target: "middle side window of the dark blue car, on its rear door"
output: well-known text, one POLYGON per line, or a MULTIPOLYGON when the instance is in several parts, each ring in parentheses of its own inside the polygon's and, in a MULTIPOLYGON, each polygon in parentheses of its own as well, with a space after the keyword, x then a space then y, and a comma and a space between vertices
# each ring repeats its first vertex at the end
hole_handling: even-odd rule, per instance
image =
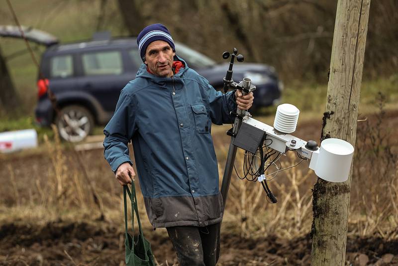
POLYGON ((120 75, 123 72, 119 51, 86 53, 82 61, 85 75, 120 75))

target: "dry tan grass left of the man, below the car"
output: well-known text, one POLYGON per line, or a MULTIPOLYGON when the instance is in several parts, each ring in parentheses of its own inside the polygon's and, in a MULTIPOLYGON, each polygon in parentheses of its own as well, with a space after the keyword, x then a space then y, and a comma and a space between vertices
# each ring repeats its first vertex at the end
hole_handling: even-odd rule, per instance
MULTIPOLYGON (((53 131, 54 139, 44 135, 45 150, 36 154, 50 162, 44 172, 16 178, 20 170, 7 163, 9 182, 3 184, 9 186, 12 203, 0 204, 0 222, 105 221, 124 228, 121 187, 104 178, 103 169, 90 168, 84 151, 62 145, 55 126, 53 131), (24 178, 30 179, 29 185, 24 178)), ((142 224, 151 227, 141 195, 138 200, 142 224)))

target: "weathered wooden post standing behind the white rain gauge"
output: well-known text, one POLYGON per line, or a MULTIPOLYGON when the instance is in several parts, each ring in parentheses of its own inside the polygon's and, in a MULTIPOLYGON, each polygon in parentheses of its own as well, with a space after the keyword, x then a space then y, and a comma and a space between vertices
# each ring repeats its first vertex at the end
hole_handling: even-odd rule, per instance
MULTIPOLYGON (((321 140, 355 146, 370 0, 338 0, 321 140)), ((351 174, 343 183, 318 178, 313 189, 312 266, 345 264, 351 174)))

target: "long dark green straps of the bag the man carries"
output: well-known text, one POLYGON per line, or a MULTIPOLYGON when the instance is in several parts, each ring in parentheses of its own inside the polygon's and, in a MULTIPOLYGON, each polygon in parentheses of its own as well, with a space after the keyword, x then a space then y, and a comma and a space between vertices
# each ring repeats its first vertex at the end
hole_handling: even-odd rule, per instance
MULTIPOLYGON (((128 185, 124 185, 123 186, 124 224, 125 224, 125 228, 126 228, 126 238, 127 238, 127 234, 128 234, 127 233, 127 200, 126 200, 126 192, 127 192, 128 196, 130 198, 130 202, 131 202, 131 218, 132 218, 131 225, 132 225, 132 230, 133 230, 133 235, 132 235, 132 240, 133 240, 132 246, 133 247, 131 247, 131 251, 134 250, 134 212, 135 212, 135 215, 137 216, 138 228, 139 228, 140 235, 141 235, 141 244, 143 245, 143 247, 146 250, 147 247, 146 247, 145 241, 144 241, 144 232, 142 230, 141 220, 140 220, 140 216, 138 214, 137 195, 136 195, 136 192, 135 192, 135 183, 134 183, 134 180, 131 180, 131 181, 132 181, 131 182, 131 191, 132 191, 132 193, 130 192, 130 189, 128 188, 128 185)), ((146 253, 145 253, 145 259, 146 260, 149 259, 148 255, 146 253)))

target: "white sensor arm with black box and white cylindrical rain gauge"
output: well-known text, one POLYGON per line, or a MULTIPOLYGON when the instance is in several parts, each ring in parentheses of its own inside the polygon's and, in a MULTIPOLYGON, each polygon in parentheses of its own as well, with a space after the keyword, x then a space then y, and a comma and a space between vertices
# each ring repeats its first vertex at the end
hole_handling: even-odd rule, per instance
POLYGON ((305 141, 291 134, 281 133, 249 116, 244 117, 233 145, 255 153, 263 141, 268 148, 281 153, 297 151, 299 157, 310 160, 308 167, 326 181, 344 182, 348 178, 354 147, 345 140, 327 138, 318 147, 313 140, 305 141))

